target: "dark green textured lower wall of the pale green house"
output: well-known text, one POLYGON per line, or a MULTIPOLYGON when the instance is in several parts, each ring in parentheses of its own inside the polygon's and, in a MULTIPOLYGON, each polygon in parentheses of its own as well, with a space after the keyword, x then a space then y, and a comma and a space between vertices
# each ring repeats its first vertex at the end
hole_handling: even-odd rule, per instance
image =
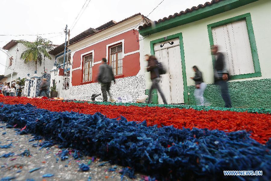
MULTIPOLYGON (((196 105, 194 97, 195 86, 188 86, 188 102, 196 105)), ((271 108, 271 79, 260 79, 251 81, 229 82, 229 93, 232 106, 236 108, 271 108)), ((220 87, 214 84, 207 84, 204 97, 212 103, 212 106, 223 107, 225 105, 220 87)))

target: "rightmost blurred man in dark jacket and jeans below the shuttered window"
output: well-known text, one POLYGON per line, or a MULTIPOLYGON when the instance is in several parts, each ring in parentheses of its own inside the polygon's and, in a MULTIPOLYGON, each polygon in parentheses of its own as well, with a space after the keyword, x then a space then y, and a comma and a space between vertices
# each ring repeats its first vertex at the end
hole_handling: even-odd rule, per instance
POLYGON ((232 101, 229 96, 229 88, 228 88, 228 79, 229 72, 227 70, 227 64, 224 59, 224 55, 221 52, 218 52, 217 45, 211 47, 211 53, 215 56, 214 63, 214 79, 215 84, 220 86, 221 96, 225 102, 225 107, 232 107, 232 101))

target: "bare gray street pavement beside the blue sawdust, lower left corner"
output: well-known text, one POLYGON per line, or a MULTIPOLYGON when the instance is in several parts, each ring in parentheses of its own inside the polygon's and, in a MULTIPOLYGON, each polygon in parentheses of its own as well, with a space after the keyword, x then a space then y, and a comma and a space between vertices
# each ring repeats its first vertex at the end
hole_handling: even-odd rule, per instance
MULTIPOLYGON (((0 148, 0 157, 3 154, 13 152, 10 157, 0 158, 0 180, 4 177, 15 177, 13 180, 34 179, 35 181, 51 181, 51 180, 121 180, 119 173, 123 167, 111 165, 107 162, 100 162, 96 159, 91 162, 89 171, 83 172, 79 170, 79 164, 89 164, 89 157, 81 157, 80 160, 75 160, 72 155, 68 159, 61 161, 60 153, 62 149, 58 145, 50 148, 33 147, 35 143, 41 143, 44 140, 29 142, 29 139, 34 138, 32 135, 19 135, 14 129, 5 128, 5 123, 0 122, 0 145, 8 145, 12 143, 11 148, 0 148), (2 127, 2 128, 1 128, 2 127), (25 150, 30 151, 30 156, 17 156, 25 150), (59 159, 57 161, 57 158, 59 159), (104 163, 103 166, 99 166, 104 163), (39 170, 29 172, 32 169, 39 170), (116 171, 108 171, 110 168, 116 168, 116 171), (49 178, 43 178, 44 174, 54 174, 49 178), (91 178, 91 179, 90 179, 91 178)), ((144 178, 140 174, 136 174, 136 179, 129 179, 124 176, 123 180, 142 180, 144 178)), ((33 181, 33 180, 29 180, 33 181)))

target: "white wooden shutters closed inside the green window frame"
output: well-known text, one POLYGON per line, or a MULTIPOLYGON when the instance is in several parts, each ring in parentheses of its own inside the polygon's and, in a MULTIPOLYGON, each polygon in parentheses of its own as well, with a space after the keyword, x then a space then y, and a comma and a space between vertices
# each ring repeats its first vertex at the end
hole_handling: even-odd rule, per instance
POLYGON ((212 28, 213 43, 219 46, 230 75, 254 73, 254 64, 245 20, 212 28))

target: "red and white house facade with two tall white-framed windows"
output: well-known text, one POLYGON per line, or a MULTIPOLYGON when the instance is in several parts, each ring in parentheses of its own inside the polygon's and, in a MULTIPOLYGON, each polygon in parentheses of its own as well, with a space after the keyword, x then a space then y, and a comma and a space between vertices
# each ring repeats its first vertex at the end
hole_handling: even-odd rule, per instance
POLYGON ((129 94, 135 100, 145 94, 145 62, 139 53, 141 37, 136 28, 147 21, 141 14, 135 14, 68 47, 71 50, 70 99, 90 100, 92 94, 101 93, 97 76, 102 58, 113 68, 117 82, 111 87, 114 97, 129 94))

